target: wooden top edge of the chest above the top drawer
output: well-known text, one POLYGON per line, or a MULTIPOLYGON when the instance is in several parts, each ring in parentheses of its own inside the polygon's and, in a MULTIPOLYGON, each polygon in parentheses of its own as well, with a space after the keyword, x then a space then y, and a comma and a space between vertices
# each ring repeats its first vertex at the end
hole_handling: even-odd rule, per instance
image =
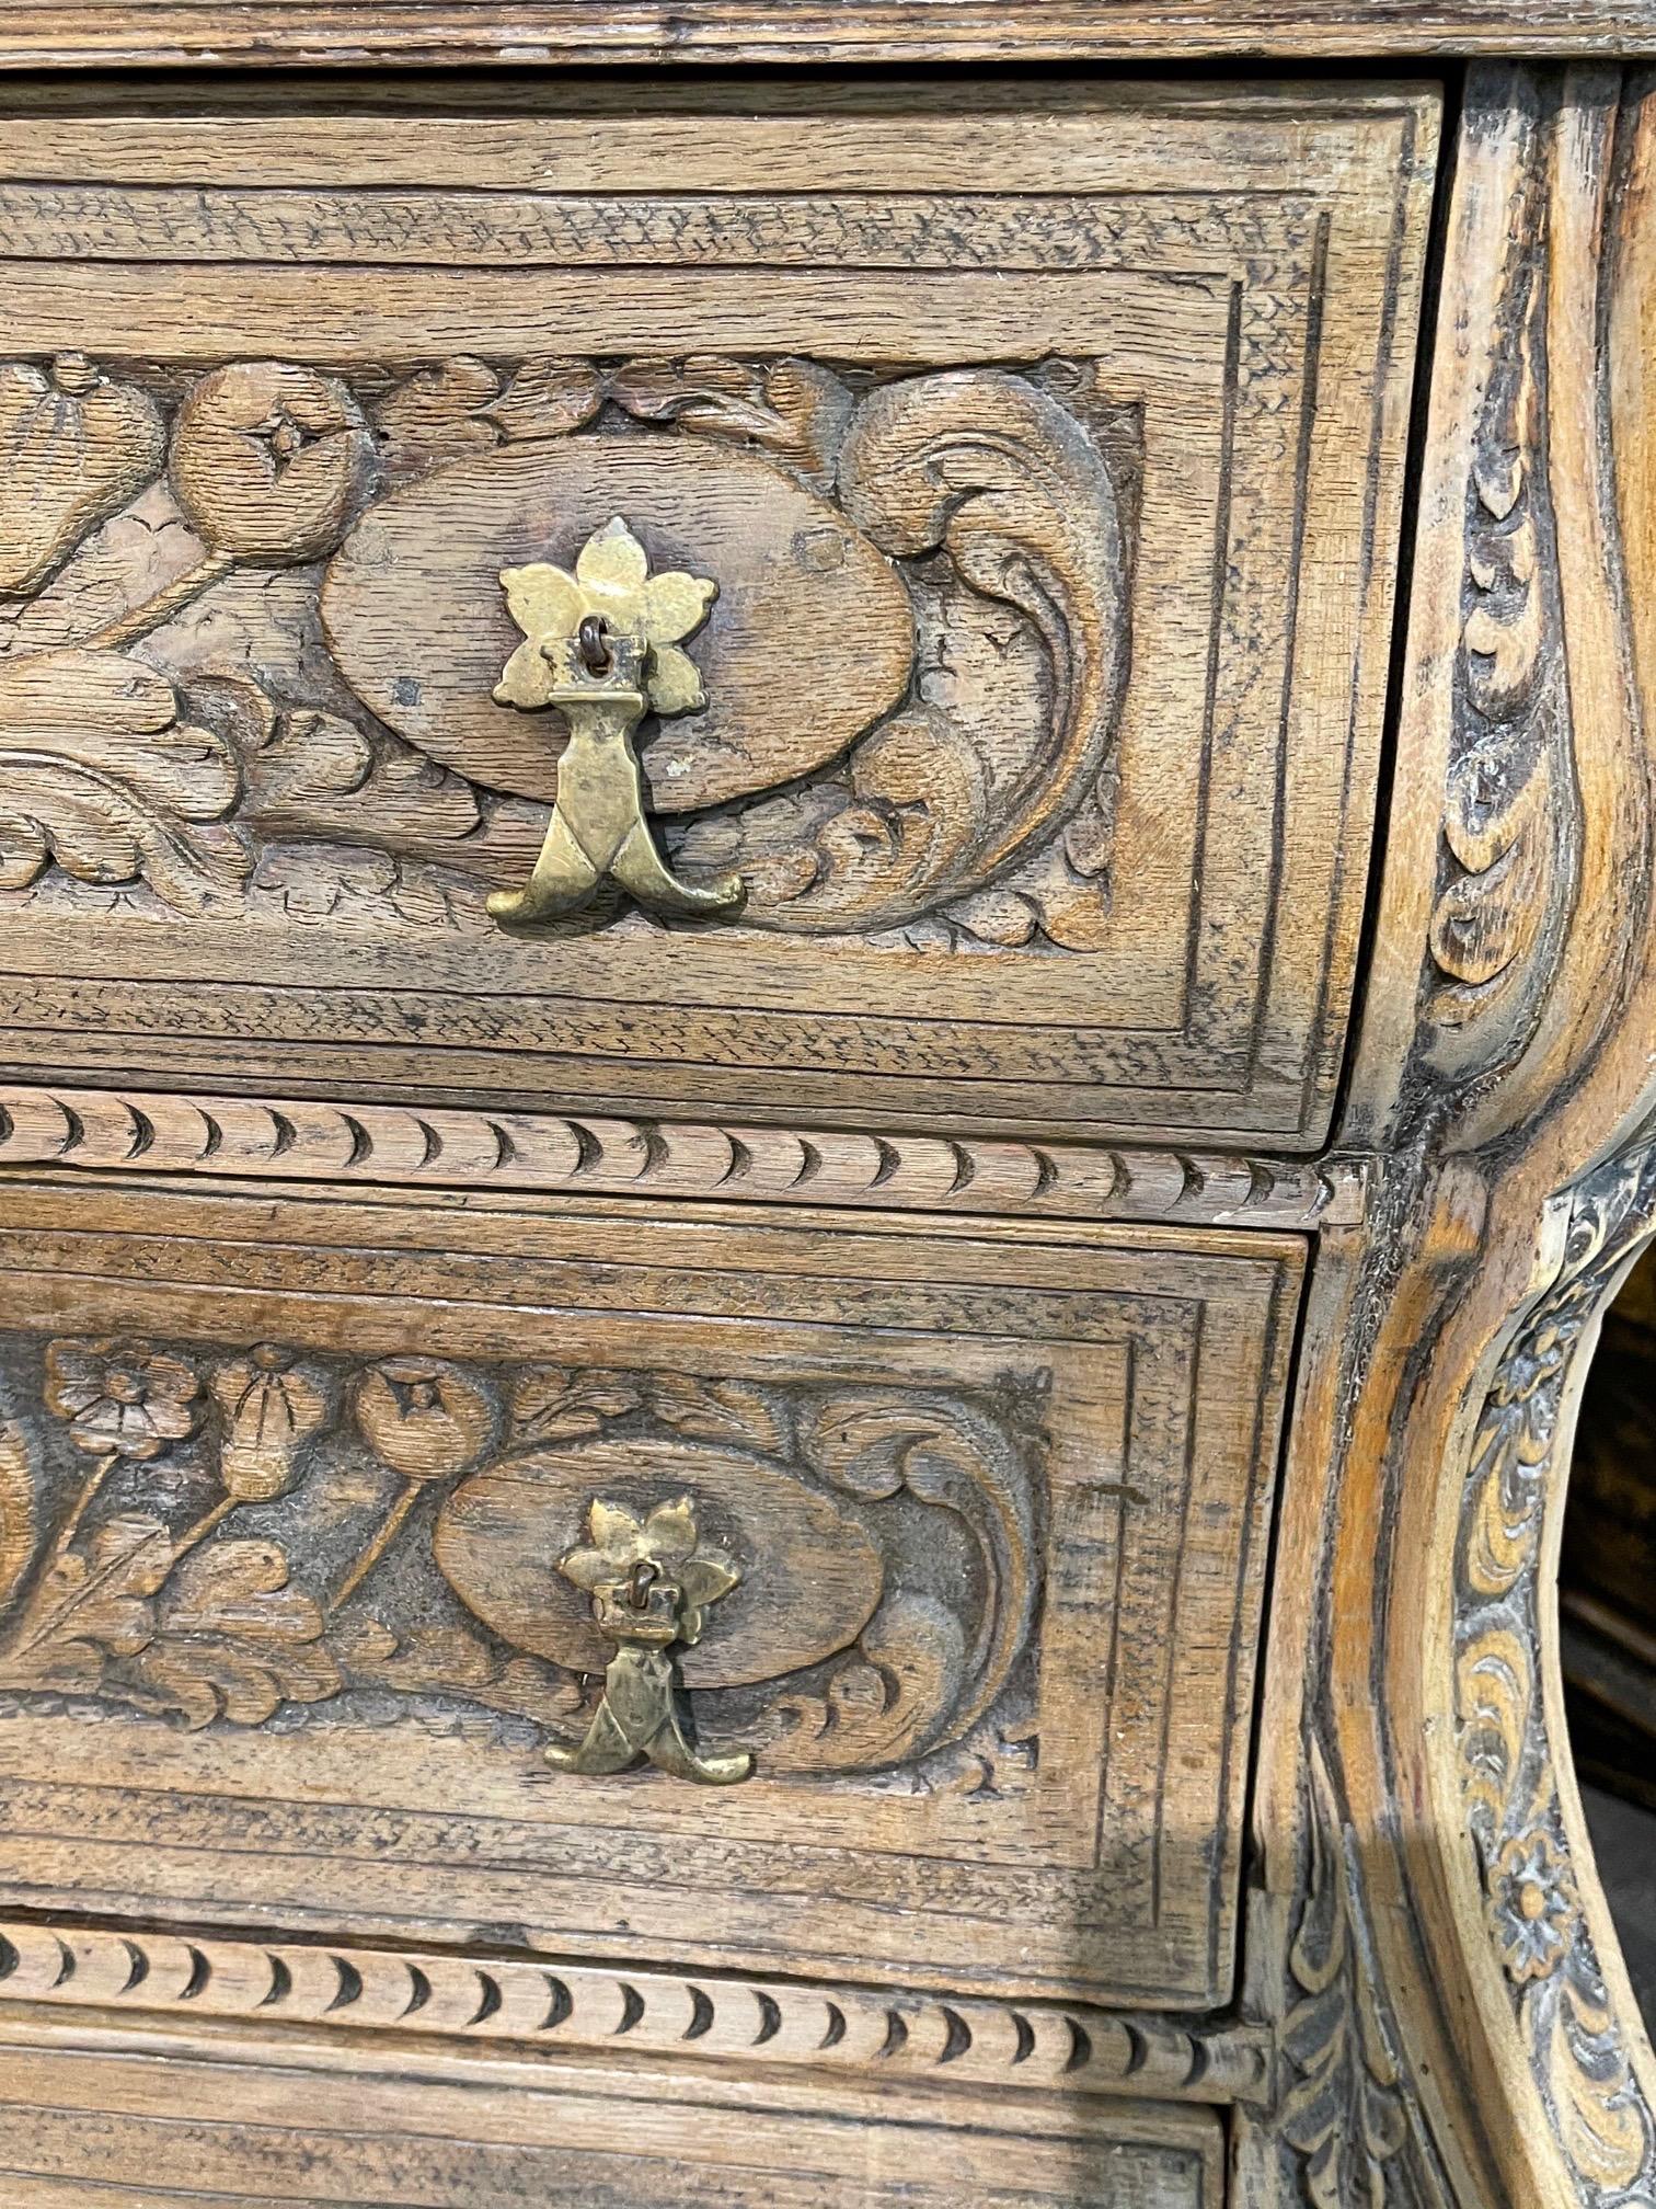
POLYGON ((0 60, 389 62, 1084 62, 1208 55, 1367 60, 1649 53, 1643 0, 13 0, 0 60))

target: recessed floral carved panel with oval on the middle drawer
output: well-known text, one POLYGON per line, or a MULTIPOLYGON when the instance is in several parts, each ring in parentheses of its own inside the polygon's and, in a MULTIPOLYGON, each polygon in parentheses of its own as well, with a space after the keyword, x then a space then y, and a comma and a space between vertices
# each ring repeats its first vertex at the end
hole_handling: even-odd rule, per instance
MULTIPOLYGON (((38 1352, 40 1356, 40 1352, 38 1352)), ((941 1394, 285 1345, 53 1341, 0 1423, 0 1692, 188 1727, 364 1694, 578 1741, 612 1648, 592 1504, 689 1511, 735 1575, 682 1650, 764 1776, 1027 1769, 1036 1381, 941 1394)), ((510 1730, 508 1730, 510 1732, 510 1730)))

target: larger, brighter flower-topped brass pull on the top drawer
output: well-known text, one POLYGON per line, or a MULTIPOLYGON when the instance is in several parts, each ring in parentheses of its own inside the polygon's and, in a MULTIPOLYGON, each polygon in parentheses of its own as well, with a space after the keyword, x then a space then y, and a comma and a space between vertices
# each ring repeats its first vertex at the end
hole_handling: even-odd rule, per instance
POLYGON ((696 663, 680 643, 718 596, 709 577, 649 572, 649 559, 616 515, 596 530, 574 574, 537 561, 501 570, 506 605, 523 643, 495 687, 499 705, 526 714, 559 707, 570 742, 541 857, 521 890, 495 890, 497 921, 554 921, 576 912, 605 877, 640 906, 687 919, 737 912, 740 875, 680 881, 645 822, 634 731, 645 714, 693 714, 707 705, 696 663))

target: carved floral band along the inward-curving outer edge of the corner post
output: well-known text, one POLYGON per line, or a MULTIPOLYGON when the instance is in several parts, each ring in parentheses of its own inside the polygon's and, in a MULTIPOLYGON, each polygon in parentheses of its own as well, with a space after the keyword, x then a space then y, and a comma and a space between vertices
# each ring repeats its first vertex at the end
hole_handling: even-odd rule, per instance
POLYGON ((1557 1277, 1499 1356, 1471 1451, 1455 1568, 1457 1763, 1486 1931, 1581 2198, 1656 2198, 1656 2118, 1632 2072, 1570 1869, 1543 1694, 1543 1549, 1596 1321, 1656 1233, 1656 1149, 1568 1199, 1557 1277))

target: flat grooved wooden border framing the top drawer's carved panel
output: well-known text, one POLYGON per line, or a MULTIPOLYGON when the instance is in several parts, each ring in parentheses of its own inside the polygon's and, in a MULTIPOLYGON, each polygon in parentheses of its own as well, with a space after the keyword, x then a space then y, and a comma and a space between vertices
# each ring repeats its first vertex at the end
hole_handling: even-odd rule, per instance
MULTIPOLYGON (((638 961, 625 943, 594 941, 590 970, 583 961, 574 981, 521 945, 492 945, 495 987, 479 1005, 464 941, 422 950, 413 965, 413 945, 402 945, 402 963, 373 981, 338 954, 331 937, 307 945, 283 921, 265 941, 267 956, 250 939, 252 965, 223 968, 223 937, 208 941, 185 928, 177 941, 152 943, 144 912, 119 910, 99 919, 97 939, 77 937, 77 976, 68 976, 66 937, 53 950, 51 915, 42 910, 40 932, 11 932, 15 985, 0 992, 18 1058, 46 1074, 75 1067, 91 1080, 119 1080, 141 1065, 161 1085, 205 1085, 225 1078, 210 1069, 234 1047, 238 1078, 278 1085, 296 1080, 296 1060, 305 1074, 338 1069, 351 1080, 344 1056, 360 1067, 371 1054, 375 1085, 413 1098, 437 1093, 431 1082, 442 1074, 450 1093, 477 1087, 523 1104, 541 1096, 594 1098, 627 1113, 671 1098, 667 1109, 764 1120, 868 1109, 852 1096, 857 1089, 879 1116, 943 1113, 978 1131, 1029 1124, 1033 1113, 1038 1124, 1062 1120, 1075 1135, 1108 1138, 1155 1109, 1179 1131, 1223 1129, 1252 1144, 1270 1142, 1274 1129, 1287 1144, 1314 1144, 1327 1122, 1356 959, 1378 740, 1378 714, 1367 709, 1378 694, 1365 676, 1389 625, 1387 548, 1406 400, 1398 362, 1413 329, 1435 104, 1429 91, 1402 86, 1365 86, 1349 102, 1305 86, 1104 88, 1091 93, 1091 104, 1078 97, 1082 88, 1058 93, 1053 130, 1029 141, 1044 148, 1040 159, 1025 157, 991 201, 980 199, 976 175, 963 197, 960 148, 976 137, 963 130, 956 99, 932 113, 923 95, 907 95, 923 106, 914 121, 923 141, 912 159, 941 148, 945 159, 927 161, 927 177, 936 170, 947 186, 914 194, 912 159, 894 159, 877 108, 863 115, 854 95, 819 95, 828 175, 813 175, 808 190, 784 190, 777 177, 762 203, 742 188, 764 172, 777 130, 804 128, 813 113, 797 104, 788 113, 782 99, 768 135, 749 141, 766 117, 751 119, 751 128, 722 117, 729 91, 720 88, 711 93, 715 113, 696 117, 700 150, 689 172, 665 168, 660 148, 651 152, 636 133, 620 141, 631 186, 620 194, 607 179, 585 192, 519 190, 526 161, 534 175, 548 155, 556 155, 563 183, 587 177, 570 146, 592 137, 583 102, 603 99, 592 93, 574 104, 561 93, 545 110, 523 104, 521 113, 497 113, 479 95, 484 141, 506 133, 510 159, 497 148, 475 179, 464 161, 477 155, 455 137, 464 119, 420 108, 431 88, 406 115, 397 110, 411 95, 395 95, 386 113, 402 121, 391 133, 402 152, 395 175, 369 199, 349 183, 349 150, 378 113, 373 102, 362 108, 362 91, 351 113, 307 113, 302 188, 280 194, 250 192, 247 183, 289 175, 291 152, 280 148, 296 110, 272 110, 256 95, 219 113, 210 95, 192 93, 185 115, 157 113, 152 93, 126 91, 102 113, 95 99, 53 99, 40 88, 18 95, 15 108, 7 102, 7 161, 18 175, 0 192, 0 243, 15 294, 11 342, 24 351, 93 345, 102 329, 157 362, 197 353, 210 360, 241 347, 280 353, 302 329, 314 367, 347 369, 362 351, 360 316, 371 294, 375 347, 386 360, 404 351, 424 360, 433 327, 450 314, 464 316, 466 342, 479 356, 503 358, 521 351, 519 340, 539 342, 567 292, 583 345, 625 353, 634 342, 634 307, 625 305, 634 278, 594 294, 585 272, 596 254, 629 272, 654 269, 651 298, 660 285, 689 285, 684 298, 702 300, 715 281, 720 298, 726 289, 733 300, 753 292, 755 305, 737 316, 753 345, 766 353, 802 345, 813 358, 819 345, 835 358, 843 345, 848 358, 874 347, 879 358, 905 360, 910 340, 899 345, 894 314, 912 331, 914 367, 936 356, 936 364, 956 369, 978 351, 1007 358, 1007 347, 1027 336, 1016 300, 1040 294, 1051 342, 1095 340, 1104 353, 1115 347, 1122 398, 1137 404, 1139 387, 1155 384, 1153 360, 1133 338, 1133 316, 1113 336, 1119 318, 1106 303, 1142 261, 1181 281, 1199 276, 1212 307, 1203 342, 1214 376, 1212 389, 1203 380, 1199 406, 1179 384, 1177 409, 1183 420, 1190 400, 1192 420, 1199 415, 1212 440, 1214 543, 1236 548, 1236 559, 1214 554, 1212 577, 1201 554, 1201 574, 1214 581, 1208 696, 1183 731, 1192 758, 1177 775, 1177 846, 1168 820, 1148 833, 1137 808, 1124 806, 1117 822, 1122 837, 1137 822, 1130 848, 1119 850, 1124 868, 1148 850, 1155 877, 1183 886, 1172 899, 1179 926, 1172 910, 1161 926, 1159 903, 1137 912, 1124 901, 1108 945, 1100 945, 1104 963, 1078 1001, 1071 992, 1080 976, 1058 990, 1053 976, 1031 974, 1020 959, 1016 970, 1031 985, 1013 992, 989 1023, 994 1034, 985 1034, 985 1014, 958 976, 934 1010, 921 1012, 888 1001, 888 983, 870 1003, 848 1003, 843 981, 830 987, 830 976, 806 965, 799 974, 810 976, 810 990, 797 987, 799 974, 788 968, 786 987, 777 979, 782 998, 749 1034, 746 1021, 729 1032, 726 976, 698 963, 707 959, 698 945, 673 950, 684 970, 682 996, 669 992, 662 1003, 649 990, 640 996, 638 961), (1108 128, 1082 157, 1071 146, 1073 126, 1093 113, 1108 128), (1208 117, 1248 130, 1245 159, 1228 152, 1203 166, 1208 117), (1133 168, 1137 146, 1168 130, 1190 148, 1190 166, 1183 152, 1164 155, 1157 175, 1142 179, 1133 168), (1133 135, 1130 148, 1124 133, 1133 135), (1338 159, 1329 146, 1342 148, 1338 159), (307 163, 316 161, 311 175, 307 163), (146 177, 137 197, 121 181, 132 172, 146 177), (179 190, 166 188, 172 172, 179 190), (843 181, 848 175, 854 186, 843 181), (464 197, 453 190, 461 177, 464 197), (473 208, 473 186, 490 186, 481 192, 490 210, 473 208), (408 267, 411 252, 424 265, 408 267), (172 269, 159 320, 157 254, 172 269), (762 287, 731 289, 735 272, 757 276, 755 254, 777 254, 786 267, 762 287), (230 287, 227 316, 225 261, 243 272, 230 287), (367 265, 378 274, 364 294, 367 265), (952 303, 943 353, 936 303, 927 305, 925 285, 914 289, 921 269, 952 303), (1228 327, 1230 340, 1221 342, 1228 327), (1329 373, 1347 351, 1367 362, 1349 389, 1329 373), (1362 486, 1334 466, 1347 440, 1369 457, 1362 486), (1316 579, 1318 541, 1329 530, 1345 541, 1347 528, 1354 596, 1347 603, 1340 585, 1338 610, 1323 607, 1316 623, 1318 649, 1340 667, 1336 694, 1325 700, 1296 680, 1312 632, 1301 636, 1301 594, 1283 592, 1278 570, 1305 568, 1316 579), (1243 559, 1241 548, 1256 557, 1243 559), (1325 630, 1323 619, 1336 612, 1336 627, 1325 630), (1221 775, 1195 769, 1195 755, 1201 749, 1223 760, 1243 727, 1250 747, 1259 744, 1261 771, 1225 791, 1221 775), (1307 808, 1327 835, 1285 831, 1307 808), (1259 884, 1263 921, 1252 919, 1259 884), (1296 926, 1278 926, 1281 915, 1298 915, 1296 926), (1155 987, 1144 985, 1139 1003, 1142 970, 1153 970, 1155 987), (320 1034, 316 987, 329 990, 320 1034), (66 1036, 75 1038, 73 1056, 66 1036), (687 1049, 687 1040, 698 1047, 687 1049), (737 1076, 740 1091, 731 1087, 737 1076)), ((1018 130, 1029 137, 1033 113, 1025 117, 1018 97, 996 88, 972 97, 987 102, 980 124, 996 144, 1018 130)), ((1022 106, 1031 106, 1027 95, 1022 106)), ((643 121, 656 126, 662 117, 671 124, 671 99, 643 121)), ((631 124, 614 117, 609 128, 627 133, 631 124)), ((669 139, 678 146, 671 130, 669 139)), ((740 342, 749 347, 749 338, 740 342)), ((1177 504, 1170 490, 1168 499, 1177 504)), ((1161 515, 1164 528, 1168 521, 1161 515)), ((1197 537, 1206 537, 1206 521, 1197 537)), ((161 601, 166 592, 150 603, 161 601)), ((1150 594, 1139 619, 1153 603, 1150 594)), ((1312 594, 1307 616, 1320 605, 1312 594)), ((29 647, 24 656, 40 654, 29 647)), ((1128 698, 1128 786, 1137 780, 1133 762, 1166 742, 1128 698)), ((764 959, 773 952, 766 945, 764 959)))

